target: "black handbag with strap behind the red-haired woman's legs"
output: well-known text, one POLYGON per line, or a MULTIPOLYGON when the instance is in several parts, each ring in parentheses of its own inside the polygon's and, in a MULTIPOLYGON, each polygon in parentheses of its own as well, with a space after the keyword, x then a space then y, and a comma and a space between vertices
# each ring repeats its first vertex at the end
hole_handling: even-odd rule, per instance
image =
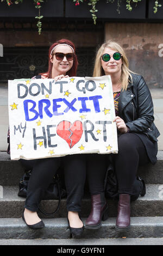
MULTIPOLYGON (((17 193, 17 195, 19 197, 27 197, 27 188, 28 188, 28 182, 30 179, 30 175, 32 174, 32 171, 29 170, 28 172, 25 172, 20 180, 19 183, 19 191, 17 193)), ((47 188, 46 191, 44 191, 44 193, 42 194, 42 200, 57 200, 58 199, 58 206, 57 209, 52 212, 52 213, 47 213, 43 210, 41 210, 39 208, 39 211, 42 212, 42 214, 45 215, 53 215, 55 214, 60 207, 60 202, 61 202, 61 198, 66 197, 66 191, 64 190, 64 188, 61 187, 61 181, 59 178, 59 175, 55 175, 52 179, 51 184, 49 185, 49 187, 47 188)))

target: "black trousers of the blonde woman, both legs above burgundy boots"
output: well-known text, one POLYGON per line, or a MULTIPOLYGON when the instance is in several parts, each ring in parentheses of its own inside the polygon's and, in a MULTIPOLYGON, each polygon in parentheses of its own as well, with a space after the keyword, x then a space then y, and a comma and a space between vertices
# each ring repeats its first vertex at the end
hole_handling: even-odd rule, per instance
MULTIPOLYGON (((108 161, 107 155, 89 157, 87 177, 91 194, 104 192, 104 179, 108 161)), ((118 137, 118 154, 111 154, 118 181, 119 193, 131 193, 137 168, 149 162, 146 148, 141 139, 133 133, 118 137)))

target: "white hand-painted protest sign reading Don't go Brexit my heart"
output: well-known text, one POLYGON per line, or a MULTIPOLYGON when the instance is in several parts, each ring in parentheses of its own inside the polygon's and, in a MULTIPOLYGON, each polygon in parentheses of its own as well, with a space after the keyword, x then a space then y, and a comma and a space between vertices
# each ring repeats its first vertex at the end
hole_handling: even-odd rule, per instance
POLYGON ((11 159, 117 153, 110 76, 9 80, 11 159))

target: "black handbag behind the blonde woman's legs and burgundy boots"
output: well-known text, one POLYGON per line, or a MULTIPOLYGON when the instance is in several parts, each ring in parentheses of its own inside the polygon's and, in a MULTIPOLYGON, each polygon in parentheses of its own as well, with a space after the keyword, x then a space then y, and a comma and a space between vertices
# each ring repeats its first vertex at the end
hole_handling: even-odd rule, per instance
MULTIPOLYGON (((130 194, 130 200, 135 201, 140 195, 146 194, 145 181, 139 176, 135 176, 133 190, 130 194)), ((118 182, 113 168, 108 168, 105 178, 105 197, 116 200, 119 198, 118 182)))

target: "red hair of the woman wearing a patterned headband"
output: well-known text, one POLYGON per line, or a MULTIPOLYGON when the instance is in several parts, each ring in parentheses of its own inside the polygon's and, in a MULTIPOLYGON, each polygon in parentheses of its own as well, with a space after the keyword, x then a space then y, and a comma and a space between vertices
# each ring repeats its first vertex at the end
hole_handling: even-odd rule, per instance
MULTIPOLYGON (((61 39, 57 42, 54 42, 53 45, 51 45, 51 47, 49 48, 49 53, 48 53, 48 71, 46 72, 46 77, 47 78, 52 78, 52 67, 53 67, 53 64, 50 60, 50 55, 51 55, 51 51, 53 49, 53 47, 55 47, 56 45, 59 45, 59 44, 67 44, 67 45, 70 45, 73 50, 74 50, 74 57, 73 57, 73 65, 72 65, 72 68, 70 70, 67 71, 66 75, 68 76, 76 76, 77 74, 77 68, 78 68, 78 59, 77 59, 77 56, 76 56, 76 48, 73 44, 73 42, 71 42, 70 40, 68 39, 61 39)), ((39 75, 43 75, 45 73, 41 73, 39 75)))

